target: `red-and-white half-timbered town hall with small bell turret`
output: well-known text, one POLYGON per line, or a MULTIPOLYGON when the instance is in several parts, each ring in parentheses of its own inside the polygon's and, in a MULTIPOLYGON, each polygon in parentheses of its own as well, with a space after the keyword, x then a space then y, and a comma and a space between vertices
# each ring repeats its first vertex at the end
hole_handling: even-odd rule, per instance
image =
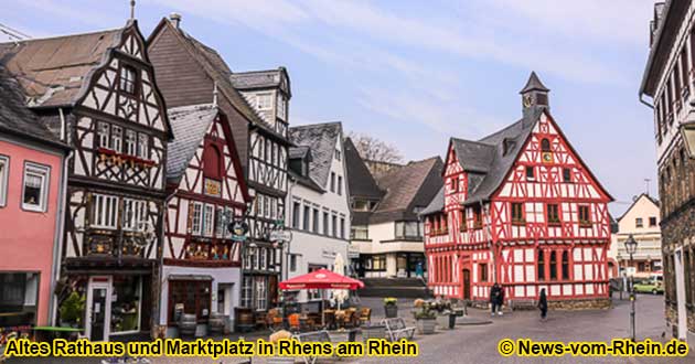
POLYGON ((421 212, 428 286, 485 303, 608 304, 608 203, 612 197, 549 114, 535 73, 521 92, 523 118, 479 141, 452 138, 445 186, 421 212))

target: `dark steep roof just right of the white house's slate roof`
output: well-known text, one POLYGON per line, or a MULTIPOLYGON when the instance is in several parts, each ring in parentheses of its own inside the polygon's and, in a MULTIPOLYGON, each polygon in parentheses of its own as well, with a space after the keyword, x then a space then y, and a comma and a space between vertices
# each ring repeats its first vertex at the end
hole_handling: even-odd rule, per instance
POLYGON ((345 138, 343 141, 345 150, 345 168, 348 170, 348 186, 351 197, 364 197, 378 200, 384 192, 378 188, 370 169, 364 164, 352 139, 345 138))

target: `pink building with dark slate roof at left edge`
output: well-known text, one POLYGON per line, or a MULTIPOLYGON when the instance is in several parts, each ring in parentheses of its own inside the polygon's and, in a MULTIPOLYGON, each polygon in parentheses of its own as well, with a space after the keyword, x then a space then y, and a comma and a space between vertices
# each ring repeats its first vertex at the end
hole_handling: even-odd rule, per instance
POLYGON ((68 150, 0 65, 0 332, 51 323, 68 150))

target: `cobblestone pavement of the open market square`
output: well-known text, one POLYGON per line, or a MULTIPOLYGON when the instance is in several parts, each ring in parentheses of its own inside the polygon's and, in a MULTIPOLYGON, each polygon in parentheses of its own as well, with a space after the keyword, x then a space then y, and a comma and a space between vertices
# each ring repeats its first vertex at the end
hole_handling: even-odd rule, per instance
MULTIPOLYGON (((363 306, 374 308, 373 321, 379 320, 384 310, 382 300, 365 298, 363 306)), ((414 324, 410 314, 411 303, 398 302, 399 315, 406 318, 408 324, 414 324)), ((553 357, 553 358, 520 358, 502 357, 498 353, 498 342, 502 339, 532 339, 534 341, 603 341, 613 338, 627 338, 629 328, 628 301, 614 301, 610 310, 594 311, 552 311, 548 320, 539 321, 536 311, 505 312, 503 317, 495 317, 492 323, 482 325, 457 325, 452 331, 437 331, 432 335, 416 335, 415 341, 420 349, 418 357, 360 357, 343 358, 341 361, 320 360, 319 363, 694 363, 695 353, 691 346, 691 354, 685 358, 638 358, 638 357, 553 357)), ((663 320, 664 303, 661 296, 639 296, 637 301, 637 333, 638 340, 650 338, 654 341, 667 341, 669 331, 663 320), (662 339, 662 333, 665 338, 662 339)), ((469 317, 490 320, 490 314, 483 310, 470 309, 469 317)), ((267 333, 247 334, 246 340, 257 338, 267 339, 267 333)), ((236 340, 236 336, 231 336, 236 340)), ((691 343, 692 344, 692 343, 691 343)), ((8 363, 66 363, 56 360, 11 360, 8 363)), ((71 361, 78 363, 98 363, 96 358, 79 358, 71 361)), ((223 357, 217 361, 191 357, 153 357, 152 363, 242 363, 243 358, 223 357)), ((254 358, 253 363, 265 363, 264 358, 254 358)), ((299 361, 298 361, 299 363, 299 361)))

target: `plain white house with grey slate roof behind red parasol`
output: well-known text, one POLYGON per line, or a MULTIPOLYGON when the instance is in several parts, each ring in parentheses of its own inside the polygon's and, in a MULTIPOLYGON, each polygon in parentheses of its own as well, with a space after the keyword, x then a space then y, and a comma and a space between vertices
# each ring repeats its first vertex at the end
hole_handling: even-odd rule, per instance
MULTIPOLYGON (((332 270, 335 259, 348 274, 350 204, 348 171, 340 122, 290 128, 296 147, 289 150, 290 189, 287 197, 288 225, 292 240, 285 263, 284 279, 322 268, 332 270)), ((297 301, 320 300, 320 291, 297 291, 297 301)))

